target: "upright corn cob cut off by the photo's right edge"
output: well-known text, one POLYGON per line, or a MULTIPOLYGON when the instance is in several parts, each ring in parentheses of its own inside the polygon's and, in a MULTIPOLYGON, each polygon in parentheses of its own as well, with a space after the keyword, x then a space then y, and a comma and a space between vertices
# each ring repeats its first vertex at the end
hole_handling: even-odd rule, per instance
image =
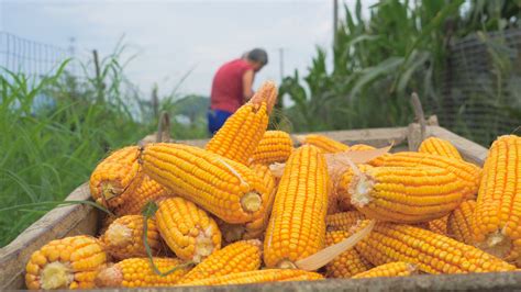
POLYGON ((501 136, 489 149, 476 209, 475 243, 521 266, 521 137, 501 136))

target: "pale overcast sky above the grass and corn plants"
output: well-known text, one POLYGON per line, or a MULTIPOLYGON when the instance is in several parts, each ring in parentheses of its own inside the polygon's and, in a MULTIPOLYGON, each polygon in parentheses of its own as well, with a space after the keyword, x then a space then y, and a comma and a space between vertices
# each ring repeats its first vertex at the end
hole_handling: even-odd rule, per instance
POLYGON ((154 82, 169 92, 192 69, 180 92, 208 96, 218 67, 256 46, 269 54, 256 86, 280 79, 280 47, 285 72, 304 72, 315 46, 332 42, 332 0, 0 0, 0 31, 65 48, 75 37, 84 58, 93 48, 101 56, 112 52, 124 35, 129 55, 138 54, 126 74, 143 92, 154 82))

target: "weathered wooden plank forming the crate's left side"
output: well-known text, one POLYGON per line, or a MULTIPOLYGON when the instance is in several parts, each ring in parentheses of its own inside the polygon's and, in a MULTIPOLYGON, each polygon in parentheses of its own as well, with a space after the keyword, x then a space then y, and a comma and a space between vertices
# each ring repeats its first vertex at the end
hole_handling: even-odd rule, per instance
MULTIPOLYGON (((90 200, 88 183, 78 187, 65 200, 90 200)), ((33 251, 53 239, 78 234, 93 235, 97 225, 98 212, 91 205, 53 209, 0 249, 0 287, 2 290, 25 287, 23 272, 33 251)))

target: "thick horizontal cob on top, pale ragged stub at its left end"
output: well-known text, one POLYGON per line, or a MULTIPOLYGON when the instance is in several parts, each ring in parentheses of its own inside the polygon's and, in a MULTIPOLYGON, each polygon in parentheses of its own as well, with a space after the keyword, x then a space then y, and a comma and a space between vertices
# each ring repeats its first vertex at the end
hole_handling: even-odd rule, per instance
POLYGON ((356 175, 351 203, 369 218, 420 223, 443 217, 462 202, 464 184, 435 167, 376 167, 356 175))

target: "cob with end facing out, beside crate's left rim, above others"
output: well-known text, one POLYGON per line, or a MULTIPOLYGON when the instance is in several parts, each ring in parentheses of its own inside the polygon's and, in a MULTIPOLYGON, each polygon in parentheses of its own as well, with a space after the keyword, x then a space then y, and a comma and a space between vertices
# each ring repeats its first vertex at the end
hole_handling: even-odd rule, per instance
POLYGON ((137 146, 125 147, 112 153, 96 167, 89 183, 96 202, 112 209, 131 195, 140 180, 138 156, 137 146))

